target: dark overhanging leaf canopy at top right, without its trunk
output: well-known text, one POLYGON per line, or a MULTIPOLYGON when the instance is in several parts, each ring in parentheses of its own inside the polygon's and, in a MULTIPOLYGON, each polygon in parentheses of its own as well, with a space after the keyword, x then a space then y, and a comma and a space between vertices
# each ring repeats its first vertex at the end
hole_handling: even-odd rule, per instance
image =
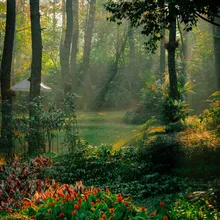
POLYGON ((141 26, 142 34, 149 37, 147 49, 155 50, 156 42, 163 36, 161 30, 168 28, 173 17, 177 17, 185 24, 185 30, 190 31, 202 18, 214 25, 218 16, 220 2, 207 0, 110 0, 105 4, 111 13, 110 21, 130 20, 132 26, 141 26))

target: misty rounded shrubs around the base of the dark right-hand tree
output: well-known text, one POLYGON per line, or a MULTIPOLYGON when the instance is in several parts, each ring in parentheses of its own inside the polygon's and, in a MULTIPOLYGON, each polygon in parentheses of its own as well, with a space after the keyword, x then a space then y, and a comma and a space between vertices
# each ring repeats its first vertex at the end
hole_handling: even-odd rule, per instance
POLYGON ((185 120, 192 112, 185 101, 186 93, 192 92, 193 86, 187 82, 183 86, 178 84, 180 100, 173 100, 168 96, 168 87, 157 83, 147 83, 147 87, 141 91, 141 102, 124 116, 127 123, 141 124, 150 117, 156 116, 164 123, 185 120))

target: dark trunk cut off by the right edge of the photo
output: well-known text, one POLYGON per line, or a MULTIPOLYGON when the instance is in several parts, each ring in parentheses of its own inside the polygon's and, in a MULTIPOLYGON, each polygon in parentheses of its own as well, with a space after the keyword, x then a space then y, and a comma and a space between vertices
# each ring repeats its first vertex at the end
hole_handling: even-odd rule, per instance
MULTIPOLYGON (((220 24, 220 18, 216 17, 215 22, 220 24)), ((214 37, 216 87, 217 90, 220 90, 220 27, 213 26, 213 37, 214 37)))

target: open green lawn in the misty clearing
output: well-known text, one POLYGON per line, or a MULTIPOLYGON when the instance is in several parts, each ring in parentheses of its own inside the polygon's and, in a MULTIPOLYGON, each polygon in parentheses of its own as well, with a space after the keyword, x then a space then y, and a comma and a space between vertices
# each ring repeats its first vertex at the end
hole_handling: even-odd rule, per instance
POLYGON ((127 125, 122 118, 125 112, 78 112, 79 135, 90 145, 115 145, 134 136, 138 125, 127 125))

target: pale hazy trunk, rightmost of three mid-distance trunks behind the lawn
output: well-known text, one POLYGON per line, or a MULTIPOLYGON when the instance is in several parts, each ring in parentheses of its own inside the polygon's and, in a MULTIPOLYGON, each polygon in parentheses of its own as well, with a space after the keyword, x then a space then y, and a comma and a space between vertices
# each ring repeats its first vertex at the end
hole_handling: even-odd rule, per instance
POLYGON ((95 22, 95 12, 96 12, 96 0, 91 0, 90 8, 89 8, 89 19, 85 31, 83 63, 82 63, 85 100, 86 100, 85 109, 89 109, 92 106, 93 95, 92 95, 92 87, 91 87, 91 79, 90 79, 91 76, 89 74, 89 65, 90 65, 90 53, 91 53, 91 44, 92 44, 92 32, 95 22))

